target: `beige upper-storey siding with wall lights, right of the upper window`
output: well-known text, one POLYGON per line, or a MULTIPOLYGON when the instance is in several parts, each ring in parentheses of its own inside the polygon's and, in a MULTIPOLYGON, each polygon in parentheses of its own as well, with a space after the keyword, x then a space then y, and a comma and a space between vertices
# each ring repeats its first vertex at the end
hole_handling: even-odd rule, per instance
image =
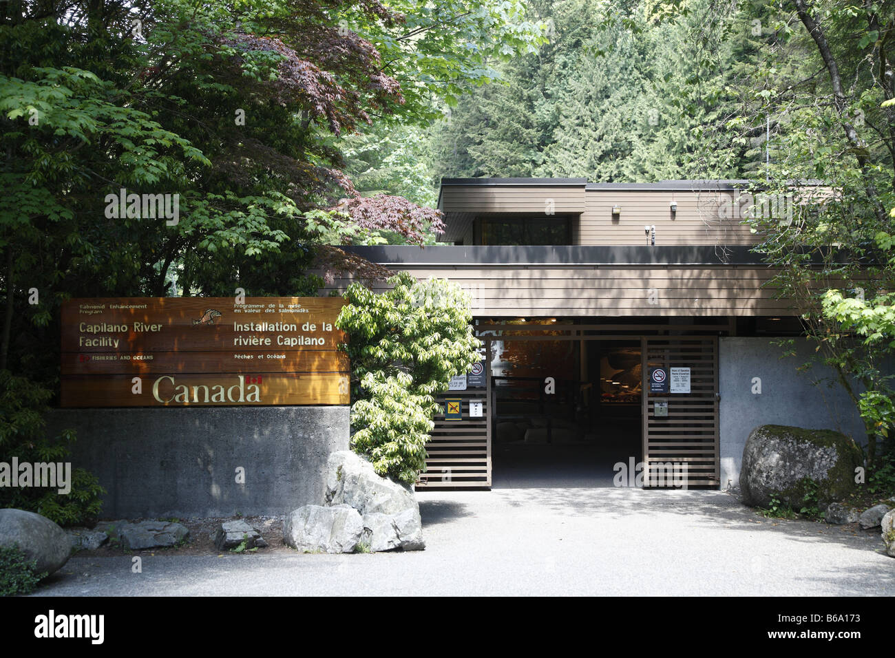
POLYGON ((647 225, 656 226, 656 245, 755 244, 748 226, 737 218, 721 217, 724 199, 731 201, 732 192, 589 190, 577 244, 649 244, 647 225), (678 203, 675 213, 671 201, 678 203), (616 204, 621 213, 613 217, 616 204))

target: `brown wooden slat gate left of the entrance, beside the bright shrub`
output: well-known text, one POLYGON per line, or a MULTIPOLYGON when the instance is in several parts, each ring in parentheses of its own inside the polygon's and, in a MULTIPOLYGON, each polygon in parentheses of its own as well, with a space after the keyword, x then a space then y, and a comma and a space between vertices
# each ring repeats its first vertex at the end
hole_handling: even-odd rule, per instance
MULTIPOLYGON (((490 377, 488 379, 490 380, 490 377)), ((426 472, 420 474, 416 488, 490 488, 491 408, 488 391, 485 389, 450 391, 437 399, 441 405, 441 413, 432 418, 435 429, 432 431, 430 442, 426 444, 429 453, 426 459, 426 472), (463 400, 463 420, 445 420, 444 404, 447 397, 463 400), (469 417, 470 400, 482 401, 481 418, 469 417)))

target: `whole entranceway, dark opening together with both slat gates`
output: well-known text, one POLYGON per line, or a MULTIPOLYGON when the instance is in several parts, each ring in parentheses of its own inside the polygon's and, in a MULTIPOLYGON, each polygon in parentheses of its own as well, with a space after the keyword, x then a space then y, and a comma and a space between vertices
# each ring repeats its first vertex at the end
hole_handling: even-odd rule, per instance
POLYGON ((729 325, 523 319, 476 330, 480 376, 437 398, 418 487, 719 485, 718 336, 729 325))

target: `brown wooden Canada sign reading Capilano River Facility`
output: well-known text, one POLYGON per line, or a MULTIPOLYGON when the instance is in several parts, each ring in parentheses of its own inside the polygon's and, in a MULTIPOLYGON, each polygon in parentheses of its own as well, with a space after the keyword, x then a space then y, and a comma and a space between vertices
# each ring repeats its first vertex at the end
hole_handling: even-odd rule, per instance
POLYGON ((62 406, 347 405, 338 297, 72 299, 62 406))

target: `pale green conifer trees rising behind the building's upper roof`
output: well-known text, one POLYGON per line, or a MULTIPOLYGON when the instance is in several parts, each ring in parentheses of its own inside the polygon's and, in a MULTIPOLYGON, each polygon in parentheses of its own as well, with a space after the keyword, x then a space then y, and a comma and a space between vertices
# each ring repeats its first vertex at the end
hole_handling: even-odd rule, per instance
POLYGON ((756 45, 741 36, 754 13, 719 19, 711 0, 533 7, 548 43, 499 64, 501 84, 436 125, 434 175, 738 178, 763 155, 730 124, 729 87, 753 76, 756 45))

